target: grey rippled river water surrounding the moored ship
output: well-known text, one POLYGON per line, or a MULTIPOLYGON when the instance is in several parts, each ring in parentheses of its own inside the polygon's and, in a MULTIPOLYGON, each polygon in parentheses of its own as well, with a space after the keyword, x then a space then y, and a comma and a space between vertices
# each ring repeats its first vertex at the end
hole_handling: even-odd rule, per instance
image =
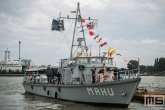
MULTIPOLYGON (((0 110, 151 110, 164 107, 145 107, 143 103, 131 102, 128 108, 107 107, 63 101, 27 94, 22 86, 23 77, 0 77, 0 110)), ((157 84, 165 87, 165 77, 145 76, 140 85, 157 84)))

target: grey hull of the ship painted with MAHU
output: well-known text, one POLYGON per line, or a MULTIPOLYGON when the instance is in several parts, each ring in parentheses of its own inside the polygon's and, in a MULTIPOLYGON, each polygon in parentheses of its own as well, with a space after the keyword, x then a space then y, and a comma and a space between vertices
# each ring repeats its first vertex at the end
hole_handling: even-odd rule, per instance
POLYGON ((44 85, 23 83, 26 92, 78 102, 128 105, 140 78, 84 85, 44 85))

